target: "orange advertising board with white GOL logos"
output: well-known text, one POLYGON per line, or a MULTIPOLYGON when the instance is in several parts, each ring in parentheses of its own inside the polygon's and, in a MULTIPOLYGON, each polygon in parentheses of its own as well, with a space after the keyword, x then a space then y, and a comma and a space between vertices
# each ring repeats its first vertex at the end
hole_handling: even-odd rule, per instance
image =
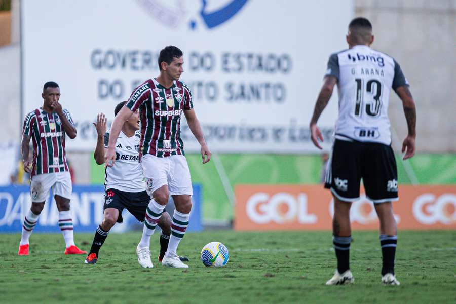
MULTIPOLYGON (((322 185, 238 185, 235 230, 330 230, 334 213, 322 185)), ((378 229, 371 201, 363 193, 353 203, 355 230, 378 229)), ((399 229, 456 229, 456 186, 399 186, 393 203, 399 229)))

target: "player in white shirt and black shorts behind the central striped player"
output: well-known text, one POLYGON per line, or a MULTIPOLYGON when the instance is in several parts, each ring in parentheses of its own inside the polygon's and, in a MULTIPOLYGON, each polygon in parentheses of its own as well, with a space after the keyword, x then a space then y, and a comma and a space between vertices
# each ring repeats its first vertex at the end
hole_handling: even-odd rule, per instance
MULTIPOLYGON (((126 101, 119 103, 114 109, 117 115, 126 101)), ((106 118, 100 113, 95 124, 97 129, 97 146, 94 158, 98 165, 104 163, 104 154, 109 141, 109 132, 106 132, 106 118)), ((98 226, 93 238, 89 255, 84 261, 86 264, 95 264, 98 260, 98 253, 107 238, 109 230, 116 222, 123 222, 122 211, 127 209, 137 220, 144 221, 147 205, 150 196, 145 190, 144 178, 141 164, 139 163, 139 111, 133 113, 125 122, 116 142, 116 166, 106 168, 105 172, 105 201, 104 218, 98 226)), ((160 255, 162 261, 168 248, 170 236, 171 218, 165 211, 160 218, 158 226, 162 229, 160 235, 160 255)), ((138 261, 144 268, 151 268, 149 248, 142 248, 137 252, 138 261)), ((181 260, 188 260, 186 257, 179 257, 181 260)))

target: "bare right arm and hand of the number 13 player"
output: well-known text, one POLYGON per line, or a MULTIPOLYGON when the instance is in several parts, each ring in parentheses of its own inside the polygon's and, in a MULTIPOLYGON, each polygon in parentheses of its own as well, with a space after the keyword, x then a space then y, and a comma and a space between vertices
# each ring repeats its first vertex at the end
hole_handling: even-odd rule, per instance
POLYGON ((405 152, 404 160, 412 158, 415 154, 416 137, 416 109, 415 102, 408 86, 401 86, 396 89, 396 94, 402 100, 405 119, 407 120, 408 134, 402 143, 402 153, 405 152))

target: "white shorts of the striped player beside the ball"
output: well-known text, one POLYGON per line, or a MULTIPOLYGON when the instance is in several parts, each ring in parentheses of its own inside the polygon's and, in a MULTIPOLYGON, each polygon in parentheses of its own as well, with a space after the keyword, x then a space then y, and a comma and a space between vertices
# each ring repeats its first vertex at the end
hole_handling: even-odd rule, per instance
POLYGON ((168 185, 170 195, 193 195, 190 170, 183 155, 156 157, 146 154, 141 158, 141 166, 149 195, 164 185, 168 185))

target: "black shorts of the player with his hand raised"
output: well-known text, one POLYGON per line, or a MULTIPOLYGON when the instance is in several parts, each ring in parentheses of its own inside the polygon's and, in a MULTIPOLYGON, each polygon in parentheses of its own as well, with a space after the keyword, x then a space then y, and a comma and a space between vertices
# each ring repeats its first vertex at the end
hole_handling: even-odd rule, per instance
POLYGON ((103 210, 114 208, 119 210, 117 222, 123 222, 122 211, 127 209, 137 220, 144 221, 145 210, 149 204, 150 197, 147 192, 126 192, 118 189, 106 189, 104 194, 103 210))

